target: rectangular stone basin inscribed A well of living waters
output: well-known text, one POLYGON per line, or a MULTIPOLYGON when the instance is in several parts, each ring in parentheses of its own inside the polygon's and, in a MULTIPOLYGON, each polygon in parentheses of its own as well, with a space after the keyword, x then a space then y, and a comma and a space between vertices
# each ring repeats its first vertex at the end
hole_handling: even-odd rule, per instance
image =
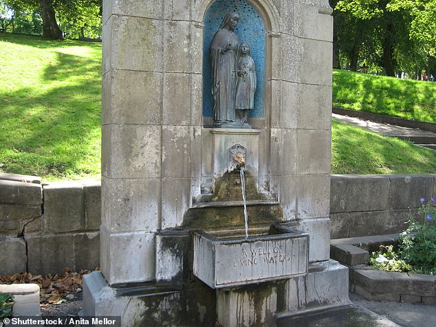
POLYGON ((212 289, 307 274, 309 235, 285 225, 273 224, 248 238, 204 231, 193 238, 194 275, 212 289))

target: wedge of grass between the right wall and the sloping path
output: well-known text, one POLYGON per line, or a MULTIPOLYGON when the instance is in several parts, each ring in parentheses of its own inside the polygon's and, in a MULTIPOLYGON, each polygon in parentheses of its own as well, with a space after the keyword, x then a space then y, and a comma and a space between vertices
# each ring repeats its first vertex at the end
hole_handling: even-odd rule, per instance
POLYGON ((332 120, 331 173, 419 174, 436 172, 436 151, 332 120))

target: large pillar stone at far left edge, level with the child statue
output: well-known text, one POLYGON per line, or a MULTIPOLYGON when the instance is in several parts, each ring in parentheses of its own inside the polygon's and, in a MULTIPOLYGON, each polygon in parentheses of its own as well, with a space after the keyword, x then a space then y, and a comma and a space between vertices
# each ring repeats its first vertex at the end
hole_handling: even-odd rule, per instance
POLYGON ((162 124, 162 73, 114 69, 103 79, 102 124, 162 124))

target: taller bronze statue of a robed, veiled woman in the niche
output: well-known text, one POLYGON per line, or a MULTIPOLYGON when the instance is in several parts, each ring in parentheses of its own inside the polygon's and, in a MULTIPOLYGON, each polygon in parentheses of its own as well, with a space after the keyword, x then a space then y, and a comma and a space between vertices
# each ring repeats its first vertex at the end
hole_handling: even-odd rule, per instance
POLYGON ((235 90, 239 38, 233 30, 239 21, 236 12, 227 12, 209 47, 213 120, 215 124, 235 122, 235 90))

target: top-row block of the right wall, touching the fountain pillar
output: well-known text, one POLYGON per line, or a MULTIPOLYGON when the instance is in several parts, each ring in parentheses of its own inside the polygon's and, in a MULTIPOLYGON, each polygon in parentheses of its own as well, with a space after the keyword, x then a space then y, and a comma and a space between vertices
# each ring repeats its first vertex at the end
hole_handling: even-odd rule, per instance
POLYGON ((331 175, 330 193, 332 213, 387 210, 389 177, 331 175))

